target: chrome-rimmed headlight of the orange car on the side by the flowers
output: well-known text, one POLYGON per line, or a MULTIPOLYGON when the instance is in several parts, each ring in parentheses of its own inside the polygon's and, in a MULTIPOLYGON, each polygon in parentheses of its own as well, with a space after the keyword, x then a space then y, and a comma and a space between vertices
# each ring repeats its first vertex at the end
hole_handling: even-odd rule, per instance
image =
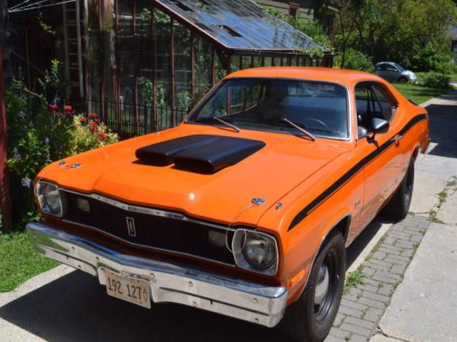
POLYGON ((54 217, 64 217, 66 211, 66 201, 65 197, 62 195, 59 185, 39 180, 35 185, 35 196, 41 212, 54 217), (50 204, 51 200, 49 199, 49 192, 46 193, 46 190, 53 192, 51 196, 56 197, 53 199, 55 202, 52 205, 50 204))

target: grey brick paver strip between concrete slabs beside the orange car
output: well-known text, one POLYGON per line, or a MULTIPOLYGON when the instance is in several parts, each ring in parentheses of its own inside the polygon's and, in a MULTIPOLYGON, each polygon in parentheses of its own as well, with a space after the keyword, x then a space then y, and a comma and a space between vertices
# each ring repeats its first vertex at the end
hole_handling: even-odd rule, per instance
POLYGON ((426 217, 410 215, 388 229, 359 268, 363 284, 343 295, 326 342, 368 341, 376 333, 378 321, 429 224, 426 217))

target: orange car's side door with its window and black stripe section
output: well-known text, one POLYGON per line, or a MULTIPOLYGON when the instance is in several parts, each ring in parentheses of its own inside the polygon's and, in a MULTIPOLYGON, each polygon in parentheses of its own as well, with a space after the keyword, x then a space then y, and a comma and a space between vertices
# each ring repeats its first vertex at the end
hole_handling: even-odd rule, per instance
POLYGON ((372 118, 391 120, 394 116, 395 104, 383 92, 383 86, 373 82, 358 83, 356 104, 358 131, 368 133, 358 137, 356 146, 364 178, 363 207, 357 226, 363 229, 396 190, 402 156, 398 146, 392 143, 395 128, 390 127, 385 133, 376 133, 370 138, 373 135, 372 118))

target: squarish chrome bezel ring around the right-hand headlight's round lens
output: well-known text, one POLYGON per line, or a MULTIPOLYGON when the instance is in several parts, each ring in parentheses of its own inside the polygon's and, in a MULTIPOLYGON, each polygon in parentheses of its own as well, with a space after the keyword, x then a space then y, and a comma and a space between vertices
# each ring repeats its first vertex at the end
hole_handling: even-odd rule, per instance
POLYGON ((239 268, 266 274, 268 276, 275 276, 277 274, 279 263, 278 242, 276 241, 276 237, 273 235, 258 232, 252 229, 236 229, 233 234, 231 248, 233 251, 233 259, 235 259, 235 264, 239 268), (275 257, 271 264, 268 264, 268 266, 265 266, 264 268, 253 266, 253 263, 247 259, 246 254, 243 252, 243 249, 246 247, 246 239, 253 238, 256 234, 261 236, 263 239, 269 239, 271 247, 274 248, 275 252, 275 257))

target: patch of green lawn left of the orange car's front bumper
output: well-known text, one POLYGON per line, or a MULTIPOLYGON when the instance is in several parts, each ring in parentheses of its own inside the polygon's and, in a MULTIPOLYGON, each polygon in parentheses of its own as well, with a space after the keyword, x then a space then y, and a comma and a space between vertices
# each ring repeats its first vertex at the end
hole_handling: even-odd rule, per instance
POLYGON ((58 264, 36 253, 25 233, 0 232, 0 292, 16 289, 32 276, 58 264))

